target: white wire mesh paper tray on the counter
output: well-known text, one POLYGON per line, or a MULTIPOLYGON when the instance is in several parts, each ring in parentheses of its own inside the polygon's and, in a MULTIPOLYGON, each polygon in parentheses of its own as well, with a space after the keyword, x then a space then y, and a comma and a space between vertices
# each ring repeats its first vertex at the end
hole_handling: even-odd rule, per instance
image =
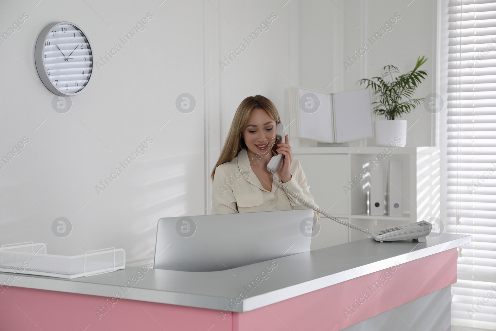
POLYGON ((77 278, 125 268, 124 249, 105 248, 82 255, 47 254, 47 244, 33 242, 2 245, 0 271, 77 278))

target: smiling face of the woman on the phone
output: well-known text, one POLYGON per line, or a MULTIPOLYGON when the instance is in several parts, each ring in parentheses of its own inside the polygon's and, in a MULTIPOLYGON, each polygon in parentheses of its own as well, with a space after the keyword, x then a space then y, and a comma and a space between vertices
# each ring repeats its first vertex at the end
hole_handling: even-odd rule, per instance
POLYGON ((250 151, 267 155, 276 142, 276 121, 263 109, 253 109, 243 130, 243 137, 250 151))

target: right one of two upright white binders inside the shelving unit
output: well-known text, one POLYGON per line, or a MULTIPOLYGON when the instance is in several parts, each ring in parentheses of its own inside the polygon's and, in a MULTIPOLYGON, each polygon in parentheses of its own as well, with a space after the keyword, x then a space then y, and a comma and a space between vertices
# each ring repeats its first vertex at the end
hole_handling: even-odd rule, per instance
POLYGON ((389 161, 387 214, 389 216, 403 216, 403 161, 389 161))

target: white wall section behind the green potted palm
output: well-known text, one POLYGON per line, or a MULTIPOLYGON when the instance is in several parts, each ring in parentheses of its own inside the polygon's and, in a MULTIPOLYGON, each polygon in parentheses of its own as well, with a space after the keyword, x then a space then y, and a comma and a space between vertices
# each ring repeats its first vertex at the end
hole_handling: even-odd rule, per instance
MULTIPOLYGON (((397 66, 400 73, 406 73, 414 68, 419 56, 425 55, 428 60, 421 68, 428 71, 428 78, 417 89, 415 97, 424 98, 435 92, 435 8, 436 1, 432 0, 415 0, 411 3, 394 0, 345 1, 344 11, 350 13, 350 18, 362 29, 360 42, 347 37, 348 33, 356 35, 359 29, 349 19, 345 19, 343 61, 363 48, 367 38, 378 32, 395 13, 401 15, 392 25, 391 31, 387 31, 376 44, 369 43, 371 49, 357 64, 363 67, 355 65, 343 71, 345 90, 363 88, 364 85, 360 87, 356 84, 360 78, 378 76, 380 69, 389 64, 397 66), (360 11, 354 11, 357 8, 360 11)), ((408 128, 411 127, 407 132, 407 146, 435 145, 432 138, 433 115, 426 111, 423 103, 401 119, 407 120, 408 128)), ((368 145, 372 144, 375 145, 375 139, 368 139, 368 145)))

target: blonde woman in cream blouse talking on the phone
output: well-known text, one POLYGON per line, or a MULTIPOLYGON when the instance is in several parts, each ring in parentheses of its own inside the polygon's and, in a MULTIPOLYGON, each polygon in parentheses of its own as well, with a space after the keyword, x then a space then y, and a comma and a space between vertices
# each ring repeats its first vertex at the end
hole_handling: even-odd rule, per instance
MULTIPOLYGON (((269 99, 255 95, 241 102, 212 170, 212 214, 308 209, 280 188, 273 176, 318 207, 300 161, 293 157, 288 135, 286 143, 276 138, 277 123, 281 119, 269 99), (267 164, 277 154, 284 155, 283 161, 272 174, 267 164)), ((313 218, 318 221, 319 213, 314 211, 313 218)))

